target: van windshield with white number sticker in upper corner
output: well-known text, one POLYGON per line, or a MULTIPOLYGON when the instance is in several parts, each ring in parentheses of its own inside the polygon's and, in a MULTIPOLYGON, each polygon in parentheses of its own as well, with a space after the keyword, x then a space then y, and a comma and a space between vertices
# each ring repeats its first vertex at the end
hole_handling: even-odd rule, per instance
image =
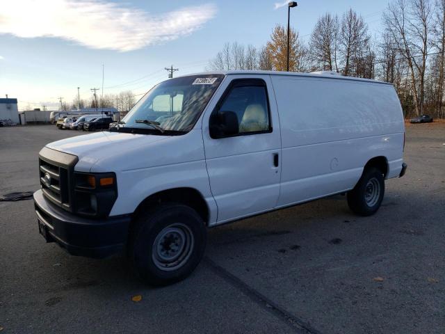
POLYGON ((150 129, 156 134, 188 132, 200 118, 223 77, 221 74, 204 74, 163 81, 133 106, 122 119, 122 126, 150 129), (156 131, 156 127, 163 132, 156 131))

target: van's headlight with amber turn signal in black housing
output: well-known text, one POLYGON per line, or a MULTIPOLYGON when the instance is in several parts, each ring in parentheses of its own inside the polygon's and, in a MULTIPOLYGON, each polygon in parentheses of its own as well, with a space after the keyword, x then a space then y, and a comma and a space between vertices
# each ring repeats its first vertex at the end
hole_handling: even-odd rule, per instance
POLYGON ((74 173, 74 212, 107 216, 118 198, 115 173, 74 173))

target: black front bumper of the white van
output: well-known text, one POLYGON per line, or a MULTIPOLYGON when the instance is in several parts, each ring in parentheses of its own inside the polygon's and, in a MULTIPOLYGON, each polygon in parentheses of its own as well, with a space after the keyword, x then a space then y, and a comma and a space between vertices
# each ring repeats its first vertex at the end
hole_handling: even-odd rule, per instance
POLYGON ((33 197, 39 231, 47 242, 56 242, 68 253, 85 257, 108 257, 124 250, 130 216, 93 220, 56 207, 44 198, 42 190, 33 197))

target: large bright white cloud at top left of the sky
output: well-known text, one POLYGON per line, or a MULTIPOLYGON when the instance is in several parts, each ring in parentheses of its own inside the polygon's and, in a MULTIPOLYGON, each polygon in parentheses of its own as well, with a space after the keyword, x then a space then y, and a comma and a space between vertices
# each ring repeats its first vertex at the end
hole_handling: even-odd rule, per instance
POLYGON ((92 49, 118 51, 175 40, 216 14, 209 3, 159 15, 103 0, 15 0, 1 7, 0 34, 63 38, 92 49))

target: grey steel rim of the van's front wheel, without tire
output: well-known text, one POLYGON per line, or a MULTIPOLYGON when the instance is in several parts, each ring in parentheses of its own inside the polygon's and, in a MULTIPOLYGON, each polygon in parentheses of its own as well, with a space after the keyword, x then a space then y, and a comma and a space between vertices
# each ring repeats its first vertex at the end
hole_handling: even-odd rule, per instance
POLYGON ((184 266, 193 251, 195 239, 187 225, 175 223, 161 230, 154 239, 152 260, 162 271, 177 270, 184 266))

